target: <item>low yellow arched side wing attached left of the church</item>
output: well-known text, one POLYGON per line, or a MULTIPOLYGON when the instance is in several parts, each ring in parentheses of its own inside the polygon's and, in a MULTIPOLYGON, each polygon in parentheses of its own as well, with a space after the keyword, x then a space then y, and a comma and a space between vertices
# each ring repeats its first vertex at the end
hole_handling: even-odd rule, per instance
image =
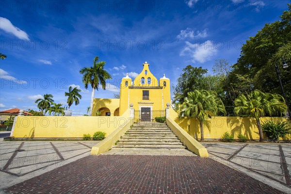
POLYGON ((92 116, 96 116, 96 112, 99 109, 103 110, 101 116, 105 116, 106 112, 110 112, 111 116, 114 116, 114 112, 116 113, 115 110, 118 108, 119 108, 118 98, 94 98, 92 116))

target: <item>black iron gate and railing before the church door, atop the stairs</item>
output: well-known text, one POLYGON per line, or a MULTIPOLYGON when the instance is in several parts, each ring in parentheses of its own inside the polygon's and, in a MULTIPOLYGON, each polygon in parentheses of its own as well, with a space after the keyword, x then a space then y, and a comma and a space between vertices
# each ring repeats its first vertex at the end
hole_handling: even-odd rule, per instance
POLYGON ((134 111, 134 122, 156 122, 156 117, 163 117, 166 112, 163 110, 151 111, 150 108, 141 108, 134 111))

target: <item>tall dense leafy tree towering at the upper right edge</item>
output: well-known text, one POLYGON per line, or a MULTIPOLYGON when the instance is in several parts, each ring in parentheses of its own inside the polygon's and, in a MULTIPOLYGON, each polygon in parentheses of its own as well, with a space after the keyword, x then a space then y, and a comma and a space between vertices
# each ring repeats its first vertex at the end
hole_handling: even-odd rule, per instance
MULTIPOLYGON (((281 57, 291 64, 291 4, 284 11, 280 20, 265 26, 242 46, 241 56, 233 65, 230 81, 238 93, 260 90, 267 93, 282 94, 275 73, 274 65, 281 70, 281 80, 286 92, 287 101, 291 102, 291 73, 282 68, 281 57), (284 50, 284 51, 283 51, 284 50), (236 77, 250 81, 246 84, 236 77), (241 88, 240 86, 248 88, 241 88), (237 87, 236 87, 237 86, 237 87)), ((237 92, 236 91, 236 92, 237 92)))

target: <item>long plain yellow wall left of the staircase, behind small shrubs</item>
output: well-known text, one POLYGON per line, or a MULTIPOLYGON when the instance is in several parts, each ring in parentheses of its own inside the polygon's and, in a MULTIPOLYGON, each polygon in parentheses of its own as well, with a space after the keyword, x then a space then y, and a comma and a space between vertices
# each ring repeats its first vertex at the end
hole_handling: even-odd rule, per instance
POLYGON ((23 137, 83 137, 96 131, 108 137, 115 129, 124 127, 129 110, 122 116, 17 116, 11 136, 23 137))

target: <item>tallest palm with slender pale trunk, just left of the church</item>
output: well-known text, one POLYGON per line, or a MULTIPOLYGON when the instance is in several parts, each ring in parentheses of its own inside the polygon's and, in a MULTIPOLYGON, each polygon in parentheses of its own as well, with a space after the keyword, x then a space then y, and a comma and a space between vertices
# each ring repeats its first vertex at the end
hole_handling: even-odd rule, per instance
POLYGON ((106 70, 104 70, 104 65, 106 62, 97 62, 98 60, 99 57, 96 56, 93 60, 92 67, 83 67, 80 70, 80 73, 83 75, 82 82, 84 83, 85 88, 87 89, 89 84, 92 86, 90 116, 92 116, 93 111, 95 89, 98 91, 98 87, 101 85, 102 89, 105 90, 106 80, 111 79, 111 75, 106 70))

